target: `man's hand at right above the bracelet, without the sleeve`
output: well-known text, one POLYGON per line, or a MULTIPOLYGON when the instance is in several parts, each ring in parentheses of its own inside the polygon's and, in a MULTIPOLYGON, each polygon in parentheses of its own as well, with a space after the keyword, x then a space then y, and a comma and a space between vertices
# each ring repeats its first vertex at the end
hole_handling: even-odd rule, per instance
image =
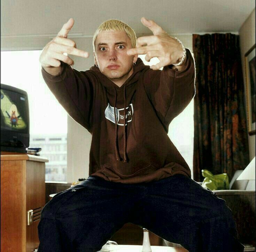
MULTIPOLYGON (((150 61, 153 57, 157 57, 160 62, 150 67, 153 70, 177 64, 183 56, 181 44, 176 39, 169 36, 163 28, 157 25, 153 20, 147 20, 142 17, 141 23, 153 32, 153 36, 139 37, 137 39, 136 48, 129 49, 127 54, 146 54, 145 59, 147 61, 150 61)), ((181 64, 180 67, 182 67, 182 65, 183 64, 181 64)))

